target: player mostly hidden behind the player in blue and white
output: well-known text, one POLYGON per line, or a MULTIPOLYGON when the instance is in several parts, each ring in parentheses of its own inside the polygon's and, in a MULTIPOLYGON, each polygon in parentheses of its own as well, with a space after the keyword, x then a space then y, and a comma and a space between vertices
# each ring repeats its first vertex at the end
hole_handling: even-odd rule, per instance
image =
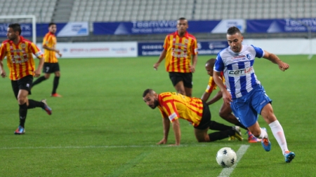
MULTIPOLYGON (((213 67, 214 67, 215 62, 216 62, 216 59, 211 58, 205 64, 205 69, 207 71, 207 74, 209 74, 210 77, 209 77, 209 84, 207 85, 206 90, 205 90, 204 94, 202 95, 201 99, 203 101, 205 101, 207 105, 211 105, 223 97, 222 92, 219 90, 217 92, 217 94, 212 99, 207 101, 209 99, 209 97, 211 96, 211 93, 213 92, 213 90, 216 90, 216 86, 217 86, 213 80, 213 67)), ((222 78, 223 83, 225 83, 225 78, 223 76, 223 72, 220 73, 220 77, 222 78)), ((249 143, 256 143, 258 141, 261 141, 261 139, 257 139, 254 135, 252 135, 248 131, 248 129, 246 127, 244 127, 244 125, 242 125, 242 123, 239 122, 239 120, 237 120, 235 115, 232 114, 232 108, 230 108, 229 104, 223 103, 223 105, 220 107, 219 115, 220 115, 220 118, 223 118, 224 120, 226 120, 234 125, 237 125, 239 127, 242 127, 243 129, 246 129, 246 131, 248 132, 248 136, 249 136, 248 137, 249 143)), ((232 137, 231 137, 231 139, 232 139, 232 137)))

